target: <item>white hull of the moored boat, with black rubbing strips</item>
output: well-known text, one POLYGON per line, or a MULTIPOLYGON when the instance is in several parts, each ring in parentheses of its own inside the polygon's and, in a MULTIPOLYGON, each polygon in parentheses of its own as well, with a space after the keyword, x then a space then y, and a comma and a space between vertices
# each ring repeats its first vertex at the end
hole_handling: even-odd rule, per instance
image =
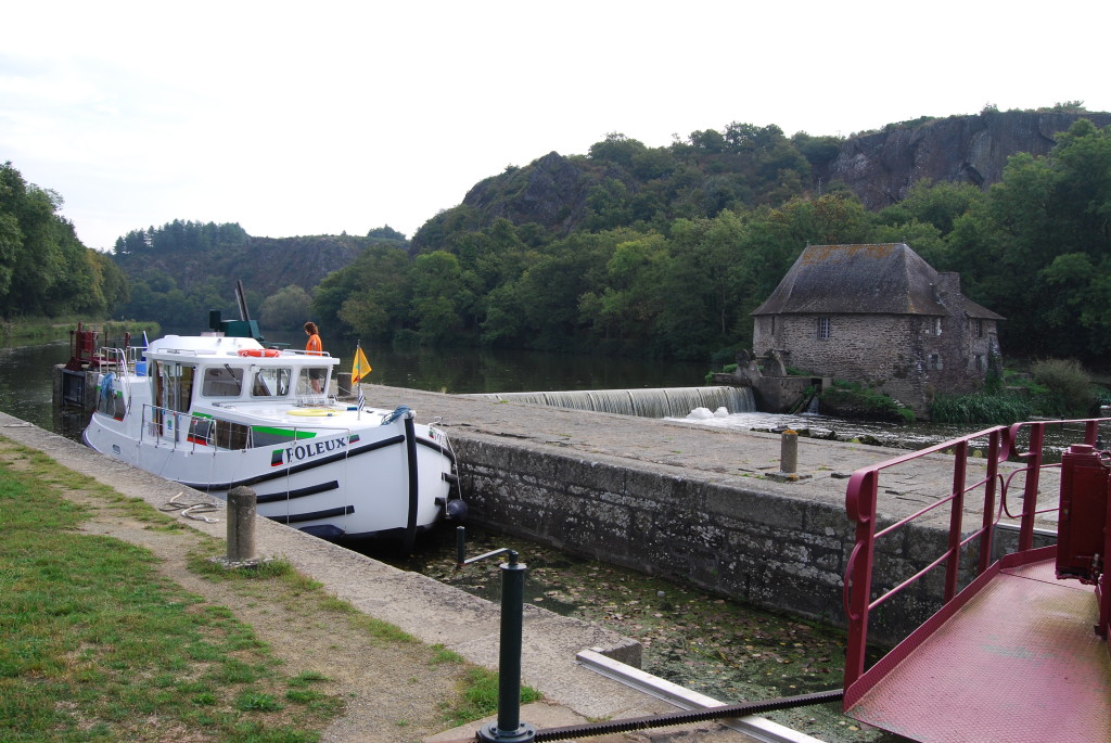
POLYGON ((406 416, 240 450, 188 436, 134 436, 128 429, 126 421, 97 412, 84 441, 217 498, 250 488, 259 515, 330 539, 411 538, 443 518, 454 480, 442 434, 406 416))

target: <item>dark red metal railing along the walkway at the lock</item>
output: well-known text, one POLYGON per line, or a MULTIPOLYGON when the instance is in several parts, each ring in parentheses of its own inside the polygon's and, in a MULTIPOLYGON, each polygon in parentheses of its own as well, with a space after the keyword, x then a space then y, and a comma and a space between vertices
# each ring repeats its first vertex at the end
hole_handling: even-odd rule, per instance
MULTIPOLYGON (((1095 445, 1100 423, 1109 420, 1111 419, 1038 421, 1017 423, 1011 426, 995 426, 903 456, 897 456, 872 466, 862 468, 852 474, 845 493, 845 510, 848 511, 849 519, 857 524, 857 539, 845 566, 844 580, 844 611, 849 620, 849 643, 844 665, 845 709, 851 706, 868 687, 882 677, 887 669, 892 667, 899 660, 905 657, 913 650, 913 646, 920 642, 920 640, 915 640, 913 644, 909 644, 913 637, 912 635, 912 637, 901 643, 865 674, 864 656, 870 612, 943 565, 943 602, 945 605, 919 632, 924 630, 924 634, 928 634, 932 631, 933 627, 928 625, 935 622, 940 615, 945 614, 947 610, 951 613, 963 601, 967 601, 967 598, 954 601, 954 599, 958 599, 960 555, 965 545, 979 540, 975 572, 978 575, 984 575, 989 566, 992 565, 991 554, 994 528, 1007 515, 1010 519, 1019 520, 1017 552, 1028 552, 1033 549, 1034 518, 1038 515, 1039 478, 1042 469, 1060 466, 1060 464, 1043 463, 1042 450, 1047 425, 1083 424, 1083 443, 1095 445), (1023 429, 1029 429, 1030 440, 1028 451, 1019 453, 1015 444, 1023 429), (984 439, 988 441, 987 459, 974 460, 985 464, 984 474, 970 483, 968 482, 969 451, 973 442, 980 442, 984 439), (931 454, 950 451, 953 456, 951 488, 948 495, 889 526, 878 530, 877 500, 881 475, 901 464, 920 460, 931 454), (1019 464, 1012 466, 1004 464, 1012 459, 1019 464), (1022 510, 1020 513, 1011 513, 1007 502, 1007 492, 1014 478, 1019 474, 1024 474, 1022 510), (962 536, 965 499, 975 491, 982 491, 983 519, 978 529, 970 532, 967 536, 962 536), (949 538, 944 552, 925 568, 901 583, 883 591, 875 599, 872 599, 872 573, 877 540, 888 536, 892 532, 922 519, 927 514, 938 512, 945 504, 949 505, 949 538)), ((937 466, 943 468, 947 466, 947 463, 939 462, 937 466)), ((1052 510, 1057 510, 1057 506, 1047 509, 1047 511, 1052 510)))

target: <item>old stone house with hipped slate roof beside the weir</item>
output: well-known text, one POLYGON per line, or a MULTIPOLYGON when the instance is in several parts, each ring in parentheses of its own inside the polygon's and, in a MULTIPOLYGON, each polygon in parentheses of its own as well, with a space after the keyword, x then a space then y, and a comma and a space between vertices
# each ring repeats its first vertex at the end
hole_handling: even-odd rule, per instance
POLYGON ((920 415, 935 393, 982 384, 1003 319, 904 243, 809 245, 752 314, 755 353, 873 385, 920 415))

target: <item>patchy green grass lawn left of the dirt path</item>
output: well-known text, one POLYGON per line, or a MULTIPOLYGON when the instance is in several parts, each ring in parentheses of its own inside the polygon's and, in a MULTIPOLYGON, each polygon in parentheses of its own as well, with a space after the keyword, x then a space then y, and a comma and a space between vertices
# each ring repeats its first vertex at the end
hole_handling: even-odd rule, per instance
POLYGON ((149 551, 74 531, 88 511, 58 489, 102 486, 41 454, 23 464, 0 466, 0 740, 319 739, 342 704, 310 693, 312 675, 286 676, 251 627, 160 576, 149 551))

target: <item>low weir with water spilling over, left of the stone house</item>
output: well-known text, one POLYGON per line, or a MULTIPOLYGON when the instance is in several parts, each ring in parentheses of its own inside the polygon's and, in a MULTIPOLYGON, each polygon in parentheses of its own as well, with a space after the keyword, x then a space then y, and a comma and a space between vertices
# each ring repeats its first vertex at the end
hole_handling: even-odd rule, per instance
POLYGON ((528 402, 552 408, 590 410, 598 413, 618 413, 619 415, 637 415, 639 418, 685 418, 695 408, 710 410, 724 408, 730 413, 752 413, 757 410, 752 390, 747 386, 494 392, 458 396, 528 402))

